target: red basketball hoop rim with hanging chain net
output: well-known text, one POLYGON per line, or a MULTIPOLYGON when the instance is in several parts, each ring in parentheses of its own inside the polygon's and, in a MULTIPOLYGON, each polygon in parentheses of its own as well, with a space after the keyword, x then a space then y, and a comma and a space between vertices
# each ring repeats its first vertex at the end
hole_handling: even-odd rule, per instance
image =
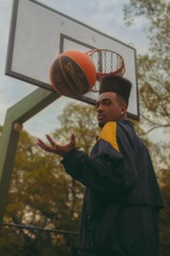
MULTIPOLYGON (((102 77, 108 74, 116 74, 123 76, 125 74, 125 63, 120 54, 107 49, 93 49, 87 51, 86 54, 94 62, 97 69, 97 81, 100 82, 102 77)), ((93 92, 99 91, 98 86, 94 85, 93 92)))

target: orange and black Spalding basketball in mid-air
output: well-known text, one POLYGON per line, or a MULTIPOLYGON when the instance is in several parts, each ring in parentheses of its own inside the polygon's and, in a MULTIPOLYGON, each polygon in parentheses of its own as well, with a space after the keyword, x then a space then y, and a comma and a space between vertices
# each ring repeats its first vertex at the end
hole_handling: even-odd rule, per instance
POLYGON ((97 71, 93 61, 81 51, 65 51, 50 67, 50 82, 61 95, 83 95, 94 86, 97 71))

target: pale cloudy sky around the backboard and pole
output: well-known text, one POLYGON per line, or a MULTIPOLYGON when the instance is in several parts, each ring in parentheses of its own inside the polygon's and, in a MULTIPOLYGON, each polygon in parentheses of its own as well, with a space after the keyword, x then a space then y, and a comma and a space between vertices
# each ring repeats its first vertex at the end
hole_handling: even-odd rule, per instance
MULTIPOLYGON (((143 32, 147 21, 140 17, 132 27, 126 27, 123 22, 123 5, 128 0, 39 0, 69 17, 73 17, 102 33, 129 44, 133 43, 137 54, 145 54, 148 51, 148 40, 143 32)), ((0 0, 0 124, 4 124, 6 109, 13 106, 24 96, 36 90, 35 85, 16 80, 4 74, 6 64, 6 51, 9 39, 9 27, 12 12, 12 0, 0 0)), ((61 114, 67 98, 61 97, 39 114, 24 124, 32 135, 43 137, 48 132, 53 132, 58 127, 58 114, 61 114)), ((73 101, 73 100, 70 100, 73 101)), ((160 137, 158 140, 160 140, 160 137)))

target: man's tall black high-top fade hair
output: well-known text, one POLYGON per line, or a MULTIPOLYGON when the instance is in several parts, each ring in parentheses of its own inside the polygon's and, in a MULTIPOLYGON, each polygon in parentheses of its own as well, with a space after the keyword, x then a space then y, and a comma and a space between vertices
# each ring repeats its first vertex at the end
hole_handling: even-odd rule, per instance
POLYGON ((128 79, 115 74, 108 74, 102 78, 99 94, 107 92, 117 93, 128 106, 131 88, 132 83, 128 79))

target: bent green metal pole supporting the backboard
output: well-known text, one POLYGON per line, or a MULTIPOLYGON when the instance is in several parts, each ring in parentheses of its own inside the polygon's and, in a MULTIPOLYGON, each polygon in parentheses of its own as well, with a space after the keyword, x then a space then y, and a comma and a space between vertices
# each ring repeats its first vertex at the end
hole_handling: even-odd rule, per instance
POLYGON ((22 124, 61 95, 39 88, 6 112, 0 140, 0 226, 3 221, 12 178, 14 158, 22 124))

